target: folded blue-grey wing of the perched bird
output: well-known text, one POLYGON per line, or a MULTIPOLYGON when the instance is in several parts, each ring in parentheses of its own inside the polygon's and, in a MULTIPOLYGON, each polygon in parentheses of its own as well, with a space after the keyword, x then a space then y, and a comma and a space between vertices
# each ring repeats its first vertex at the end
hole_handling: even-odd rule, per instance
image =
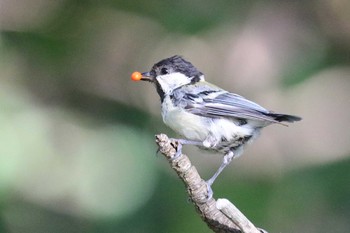
POLYGON ((196 93, 188 91, 182 93, 182 106, 188 112, 196 115, 278 122, 269 116, 268 110, 260 105, 222 89, 202 88, 196 93))

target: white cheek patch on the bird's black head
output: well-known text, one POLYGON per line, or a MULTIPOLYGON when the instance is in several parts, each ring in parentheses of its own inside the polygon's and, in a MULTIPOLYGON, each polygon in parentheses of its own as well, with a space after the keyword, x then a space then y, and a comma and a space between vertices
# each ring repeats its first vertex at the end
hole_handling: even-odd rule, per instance
POLYGON ((182 85, 188 84, 191 80, 186 75, 181 73, 172 73, 160 75, 156 77, 158 83, 162 87, 164 93, 168 94, 172 90, 182 85))

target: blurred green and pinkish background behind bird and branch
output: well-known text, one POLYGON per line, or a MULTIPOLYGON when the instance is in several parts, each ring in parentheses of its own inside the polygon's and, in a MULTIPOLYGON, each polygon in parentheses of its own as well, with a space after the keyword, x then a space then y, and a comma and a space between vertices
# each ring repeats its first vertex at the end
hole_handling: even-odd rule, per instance
MULTIPOLYGON (((269 232, 349 232, 350 2, 0 1, 0 232, 210 232, 154 135, 174 54, 303 121, 265 129, 215 183, 269 232)), ((220 155, 186 147, 201 175, 220 155)))

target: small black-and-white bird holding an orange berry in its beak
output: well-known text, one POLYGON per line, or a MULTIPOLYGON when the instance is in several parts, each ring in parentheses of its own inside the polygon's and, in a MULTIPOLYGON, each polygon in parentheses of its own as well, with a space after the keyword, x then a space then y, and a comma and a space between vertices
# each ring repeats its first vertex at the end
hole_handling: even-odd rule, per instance
POLYGON ((149 72, 134 72, 131 77, 155 85, 164 123, 184 137, 176 139, 179 147, 175 157, 181 155, 185 144, 224 154, 219 169, 207 181, 209 195, 215 179, 263 127, 301 120, 271 112, 206 82, 202 72, 178 55, 159 61, 149 72))

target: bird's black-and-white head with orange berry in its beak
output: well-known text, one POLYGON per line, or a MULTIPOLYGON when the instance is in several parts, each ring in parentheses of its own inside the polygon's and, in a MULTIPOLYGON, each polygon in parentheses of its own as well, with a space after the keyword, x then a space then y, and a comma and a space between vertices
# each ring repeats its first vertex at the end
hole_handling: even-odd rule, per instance
POLYGON ((134 72, 131 78, 154 83, 161 99, 181 86, 204 81, 203 73, 178 55, 159 61, 149 72, 134 72))

